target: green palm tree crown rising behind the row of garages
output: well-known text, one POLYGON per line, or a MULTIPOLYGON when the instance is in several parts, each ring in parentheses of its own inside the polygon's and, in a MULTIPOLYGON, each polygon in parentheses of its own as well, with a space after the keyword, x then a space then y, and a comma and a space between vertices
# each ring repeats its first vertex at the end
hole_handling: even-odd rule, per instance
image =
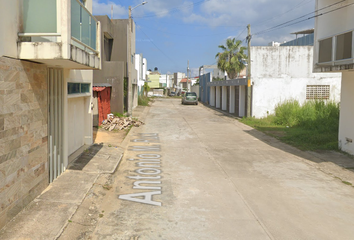
POLYGON ((246 67, 244 60, 247 59, 245 54, 246 47, 242 47, 242 41, 235 38, 226 40, 226 46, 220 45, 220 49, 224 52, 216 54, 218 58, 218 68, 227 72, 230 79, 236 79, 238 74, 246 67))

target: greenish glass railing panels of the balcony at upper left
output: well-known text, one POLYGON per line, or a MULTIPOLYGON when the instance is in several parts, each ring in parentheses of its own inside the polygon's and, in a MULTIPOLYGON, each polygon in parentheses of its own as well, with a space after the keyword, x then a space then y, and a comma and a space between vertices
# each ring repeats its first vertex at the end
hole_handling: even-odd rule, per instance
POLYGON ((64 17, 71 18, 71 44, 91 54, 98 54, 97 20, 78 0, 22 0, 23 33, 21 42, 61 42, 64 17), (58 9, 63 1, 71 2, 71 12, 58 9))

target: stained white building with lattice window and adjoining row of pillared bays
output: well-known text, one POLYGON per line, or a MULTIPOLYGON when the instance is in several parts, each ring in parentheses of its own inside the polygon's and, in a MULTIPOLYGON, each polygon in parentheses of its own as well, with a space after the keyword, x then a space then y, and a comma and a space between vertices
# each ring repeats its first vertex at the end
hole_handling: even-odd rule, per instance
MULTIPOLYGON (((273 114, 276 105, 286 100, 340 101, 341 74, 313 73, 312 46, 252 47, 251 58, 251 116, 273 114)), ((207 83, 210 97, 204 101, 246 116, 247 84, 246 78, 207 83)))

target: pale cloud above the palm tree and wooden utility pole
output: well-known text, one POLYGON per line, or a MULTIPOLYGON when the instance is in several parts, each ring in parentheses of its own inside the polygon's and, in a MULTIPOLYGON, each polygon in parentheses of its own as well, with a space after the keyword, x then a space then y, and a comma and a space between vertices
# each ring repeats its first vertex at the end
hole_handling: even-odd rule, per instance
MULTIPOLYGON (((291 32, 313 28, 313 21, 306 21, 279 28, 278 30, 260 33, 278 24, 293 20, 306 13, 314 11, 313 0, 294 0, 291 4, 284 4, 283 0, 209 0, 199 7, 199 11, 194 11, 189 16, 184 16, 186 23, 201 23, 210 28, 228 28, 244 30, 251 24, 252 34, 255 37, 255 44, 265 45, 271 41, 291 39, 291 32), (310 4, 311 3, 311 4, 310 4)), ((243 32, 239 39, 243 40, 247 35, 247 30, 243 32)))

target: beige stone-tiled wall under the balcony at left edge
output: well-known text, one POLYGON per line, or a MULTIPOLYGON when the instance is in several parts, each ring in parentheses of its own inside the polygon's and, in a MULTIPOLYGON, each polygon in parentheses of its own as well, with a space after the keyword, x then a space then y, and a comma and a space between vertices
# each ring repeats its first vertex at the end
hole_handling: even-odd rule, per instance
POLYGON ((0 57, 0 228, 48 186, 47 67, 0 57))

